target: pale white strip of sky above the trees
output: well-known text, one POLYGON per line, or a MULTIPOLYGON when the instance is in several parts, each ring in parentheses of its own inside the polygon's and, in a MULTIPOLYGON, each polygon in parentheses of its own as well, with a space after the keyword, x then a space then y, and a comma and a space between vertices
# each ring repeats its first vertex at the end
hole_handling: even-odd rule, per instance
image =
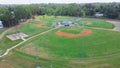
POLYGON ((120 0, 0 0, 0 4, 31 4, 31 3, 94 3, 120 2, 120 0))

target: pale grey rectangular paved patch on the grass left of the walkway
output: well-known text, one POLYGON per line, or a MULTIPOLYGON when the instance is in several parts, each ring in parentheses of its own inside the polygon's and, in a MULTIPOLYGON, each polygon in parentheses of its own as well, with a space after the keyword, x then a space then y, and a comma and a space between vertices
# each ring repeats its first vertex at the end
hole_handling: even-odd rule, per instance
POLYGON ((18 40, 18 39, 25 40, 25 39, 24 39, 25 37, 28 37, 28 35, 26 35, 26 34, 23 33, 23 32, 11 34, 11 35, 7 35, 7 38, 9 38, 9 39, 12 40, 12 41, 18 40))

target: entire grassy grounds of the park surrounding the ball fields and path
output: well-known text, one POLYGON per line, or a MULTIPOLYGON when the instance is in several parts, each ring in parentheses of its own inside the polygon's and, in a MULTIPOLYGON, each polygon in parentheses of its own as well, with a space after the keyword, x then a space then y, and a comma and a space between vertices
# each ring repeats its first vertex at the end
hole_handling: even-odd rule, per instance
MULTIPOLYGON (((32 37, 51 27, 54 21, 75 21, 80 27, 62 27, 26 41, 21 46, 0 59, 3 68, 119 68, 120 67, 120 32, 99 30, 89 27, 112 29, 114 25, 100 19, 76 18, 65 16, 35 16, 30 22, 15 27, 6 35, 24 32, 32 37), (44 25, 39 28, 37 25, 44 25), (66 37, 56 34, 57 31, 79 34, 84 29, 91 30, 85 36, 66 37), (6 65, 4 65, 6 64, 6 65)), ((5 35, 5 36, 6 36, 5 35)), ((28 37, 28 38, 29 38, 28 37)), ((11 41, 6 37, 0 40, 0 50, 16 45, 22 40, 11 41)))

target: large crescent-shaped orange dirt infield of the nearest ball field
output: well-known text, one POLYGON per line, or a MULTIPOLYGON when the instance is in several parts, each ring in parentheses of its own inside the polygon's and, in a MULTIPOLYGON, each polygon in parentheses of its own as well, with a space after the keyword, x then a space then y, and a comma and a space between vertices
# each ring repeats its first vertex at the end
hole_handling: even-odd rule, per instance
POLYGON ((78 36, 85 36, 88 34, 91 34, 92 31, 89 29, 84 29, 81 33, 79 34, 72 34, 72 33, 67 33, 67 32, 62 32, 62 31, 57 31, 56 34, 59 36, 67 36, 67 37, 78 37, 78 36))

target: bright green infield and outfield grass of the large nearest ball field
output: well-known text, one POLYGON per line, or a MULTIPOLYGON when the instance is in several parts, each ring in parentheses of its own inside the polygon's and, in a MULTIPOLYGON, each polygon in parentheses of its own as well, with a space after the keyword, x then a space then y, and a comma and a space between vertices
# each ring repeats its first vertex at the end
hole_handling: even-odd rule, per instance
MULTIPOLYGON (((60 30, 77 33, 79 30, 83 30, 83 28, 74 27, 74 31, 67 28, 60 30)), ((96 58, 119 53, 119 32, 91 30, 92 34, 83 37, 58 36, 55 34, 57 30, 55 30, 43 36, 36 37, 26 42, 23 46, 36 46, 39 52, 47 54, 51 58, 59 59, 96 58)))

